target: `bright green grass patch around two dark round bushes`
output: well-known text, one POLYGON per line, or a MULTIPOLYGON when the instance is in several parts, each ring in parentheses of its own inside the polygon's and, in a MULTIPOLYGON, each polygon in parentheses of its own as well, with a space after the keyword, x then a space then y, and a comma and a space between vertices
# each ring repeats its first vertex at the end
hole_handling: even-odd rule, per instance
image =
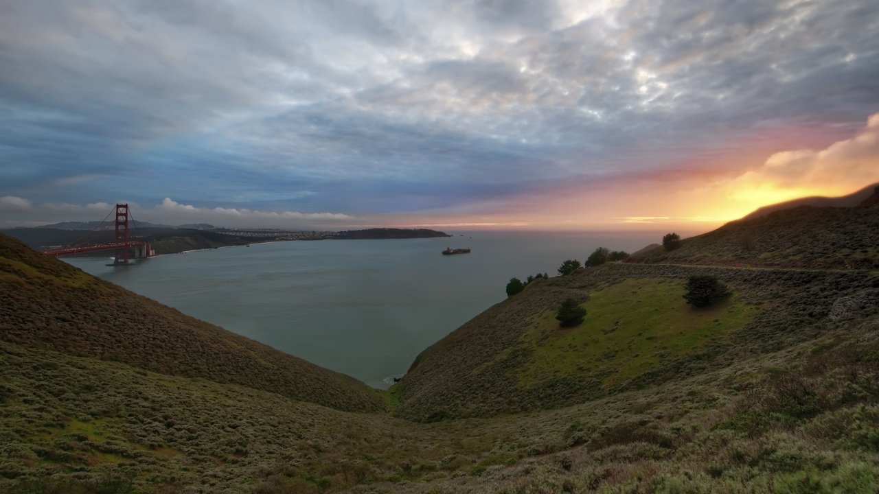
POLYGON ((735 296, 695 309, 681 298, 683 286, 677 279, 629 279, 596 290, 583 304, 585 322, 571 329, 560 328, 553 311, 543 313, 522 338, 534 354, 519 370, 519 383, 599 372, 602 386, 627 381, 704 350, 757 312, 735 296))

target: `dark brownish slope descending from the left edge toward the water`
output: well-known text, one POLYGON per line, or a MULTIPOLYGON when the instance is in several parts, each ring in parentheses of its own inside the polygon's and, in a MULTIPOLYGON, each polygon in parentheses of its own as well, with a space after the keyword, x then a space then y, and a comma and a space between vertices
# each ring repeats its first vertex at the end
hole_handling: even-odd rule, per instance
POLYGON ((278 352, 0 236, 0 340, 163 374, 264 389, 340 410, 380 410, 360 381, 278 352))

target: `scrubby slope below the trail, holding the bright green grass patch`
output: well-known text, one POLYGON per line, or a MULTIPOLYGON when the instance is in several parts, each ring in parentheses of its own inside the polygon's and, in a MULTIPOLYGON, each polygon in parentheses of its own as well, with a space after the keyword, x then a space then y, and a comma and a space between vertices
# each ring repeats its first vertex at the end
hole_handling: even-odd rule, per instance
POLYGON ((834 307, 853 300, 866 310, 876 300, 875 283, 858 271, 580 270, 529 285, 422 352, 397 385, 396 413, 433 421, 541 410, 721 368, 828 331, 834 307), (699 273, 726 282, 732 300, 716 309, 687 306, 680 287, 699 273), (585 301, 590 314, 562 330, 553 316, 569 297, 585 301))

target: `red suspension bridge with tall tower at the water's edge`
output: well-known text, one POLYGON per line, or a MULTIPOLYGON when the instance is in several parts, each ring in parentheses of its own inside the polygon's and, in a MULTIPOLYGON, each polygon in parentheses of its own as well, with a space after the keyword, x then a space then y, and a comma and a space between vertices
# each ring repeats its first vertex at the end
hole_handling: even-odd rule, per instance
POLYGON ((131 216, 131 212, 129 211, 127 204, 117 204, 116 207, 113 208, 113 211, 108 213, 104 217, 104 219, 101 220, 101 224, 107 225, 107 227, 109 227, 109 222, 107 222, 107 219, 110 217, 111 214, 114 213, 114 242, 92 243, 94 242, 95 237, 97 237, 98 234, 104 231, 104 229, 98 228, 92 232, 94 234, 92 236, 82 236, 76 241, 72 242, 71 245, 44 252, 49 256, 54 256, 57 258, 61 256, 76 256, 76 254, 85 254, 87 252, 116 251, 113 265, 128 265, 129 259, 143 259, 156 255, 155 251, 152 251, 150 249, 149 242, 146 242, 144 240, 132 240, 130 238, 130 225, 134 223, 134 218, 131 216), (87 236, 88 238, 86 238, 87 236))

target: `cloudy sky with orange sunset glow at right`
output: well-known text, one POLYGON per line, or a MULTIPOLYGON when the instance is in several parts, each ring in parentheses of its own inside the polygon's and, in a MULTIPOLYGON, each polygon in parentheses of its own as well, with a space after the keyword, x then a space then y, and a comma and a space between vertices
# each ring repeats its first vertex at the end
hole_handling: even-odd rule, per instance
POLYGON ((875 0, 0 0, 0 228, 707 231, 875 182, 875 0))

